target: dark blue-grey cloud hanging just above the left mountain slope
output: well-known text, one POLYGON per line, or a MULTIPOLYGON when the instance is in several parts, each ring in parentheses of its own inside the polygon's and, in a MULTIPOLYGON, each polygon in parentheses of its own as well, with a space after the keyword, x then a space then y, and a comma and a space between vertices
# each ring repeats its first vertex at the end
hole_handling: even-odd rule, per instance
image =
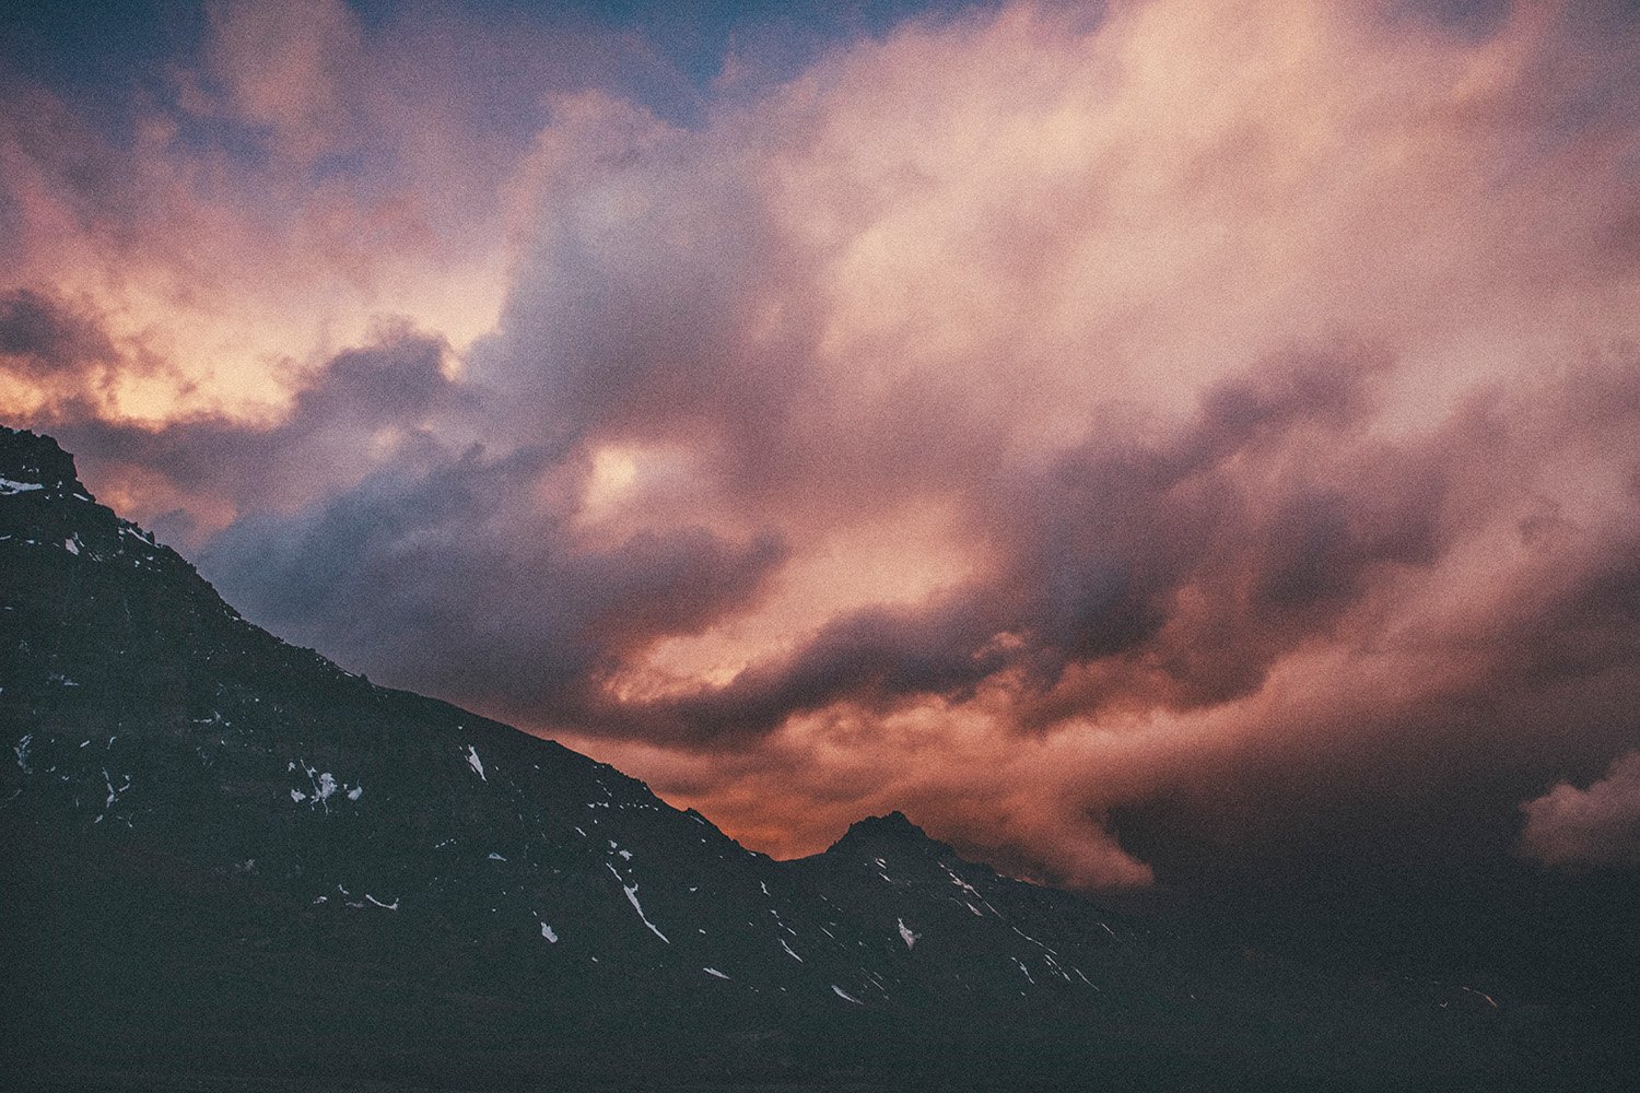
POLYGON ((786 551, 704 528, 581 542, 551 495, 559 457, 428 449, 235 523, 202 565, 253 618, 343 662, 515 718, 585 714, 623 655, 745 606, 786 551))

